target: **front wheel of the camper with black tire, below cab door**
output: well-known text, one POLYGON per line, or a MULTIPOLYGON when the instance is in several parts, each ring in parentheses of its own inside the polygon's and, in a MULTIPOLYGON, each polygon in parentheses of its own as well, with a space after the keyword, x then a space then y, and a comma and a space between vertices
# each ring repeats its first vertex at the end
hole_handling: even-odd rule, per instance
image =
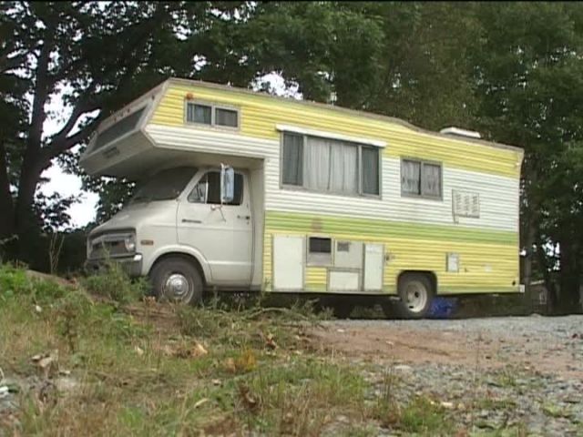
POLYGON ((162 259, 151 269, 152 293, 158 300, 198 305, 202 300, 203 282, 199 270, 188 259, 162 259))

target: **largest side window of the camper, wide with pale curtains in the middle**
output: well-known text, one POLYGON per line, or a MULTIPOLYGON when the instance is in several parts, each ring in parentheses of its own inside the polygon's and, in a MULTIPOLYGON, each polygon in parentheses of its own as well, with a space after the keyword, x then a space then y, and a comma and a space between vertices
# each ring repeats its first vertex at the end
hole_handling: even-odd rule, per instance
POLYGON ((283 133, 283 186, 346 196, 379 196, 380 179, 380 153, 377 147, 283 133))

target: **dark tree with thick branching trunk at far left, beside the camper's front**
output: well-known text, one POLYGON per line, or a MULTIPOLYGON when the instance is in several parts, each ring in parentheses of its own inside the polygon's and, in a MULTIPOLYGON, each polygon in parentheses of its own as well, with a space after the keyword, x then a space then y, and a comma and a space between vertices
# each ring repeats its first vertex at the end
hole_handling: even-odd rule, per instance
MULTIPOLYGON (((170 75, 191 76, 209 29, 239 2, 4 2, 0 5, 0 239, 37 228, 35 193, 55 159, 113 110, 170 75), (47 105, 57 95, 58 114, 47 105), (56 133, 46 121, 63 117, 56 133)), ((227 19, 227 21, 229 21, 227 19)))

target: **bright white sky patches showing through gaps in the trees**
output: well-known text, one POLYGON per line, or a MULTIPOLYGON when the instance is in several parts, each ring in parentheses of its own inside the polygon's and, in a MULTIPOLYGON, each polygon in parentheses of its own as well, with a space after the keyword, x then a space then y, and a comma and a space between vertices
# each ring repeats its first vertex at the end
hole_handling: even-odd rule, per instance
MULTIPOLYGON (((255 85, 259 86, 262 82, 269 82, 270 91, 278 96, 302 98, 297 86, 286 86, 283 78, 277 74, 263 76, 257 80, 255 85)), ((53 117, 48 117, 46 120, 45 135, 52 135, 58 131, 66 117, 70 115, 70 109, 66 108, 59 96, 52 98, 46 109, 53 117)), ((56 162, 43 172, 42 177, 50 179, 39 188, 42 193, 51 195, 58 192, 62 197, 71 195, 80 197, 79 202, 72 205, 67 211, 71 216, 72 226, 83 227, 95 219, 99 196, 96 193, 82 190, 80 178, 66 174, 56 162)))

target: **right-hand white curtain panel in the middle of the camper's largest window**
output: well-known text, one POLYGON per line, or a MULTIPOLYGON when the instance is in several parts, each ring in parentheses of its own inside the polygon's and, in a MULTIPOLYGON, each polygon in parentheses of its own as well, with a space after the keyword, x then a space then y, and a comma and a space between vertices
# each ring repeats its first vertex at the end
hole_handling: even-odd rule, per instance
POLYGON ((334 141, 330 158, 330 190, 358 193, 358 147, 334 141))

